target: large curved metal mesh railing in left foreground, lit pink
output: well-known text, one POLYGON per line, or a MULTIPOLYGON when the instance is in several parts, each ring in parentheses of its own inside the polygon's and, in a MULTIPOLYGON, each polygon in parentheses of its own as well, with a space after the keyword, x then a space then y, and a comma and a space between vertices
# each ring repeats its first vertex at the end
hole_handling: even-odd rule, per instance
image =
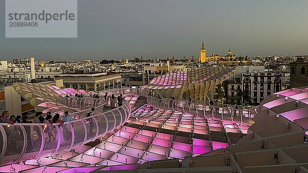
MULTIPOLYGON (((88 112, 87 112, 88 113, 88 112)), ((75 119, 50 126, 32 123, 0 124, 0 165, 29 159, 54 156, 93 141, 123 125, 131 108, 127 102, 120 107, 103 112, 103 106, 94 115, 85 117, 85 111, 74 113, 75 119)))

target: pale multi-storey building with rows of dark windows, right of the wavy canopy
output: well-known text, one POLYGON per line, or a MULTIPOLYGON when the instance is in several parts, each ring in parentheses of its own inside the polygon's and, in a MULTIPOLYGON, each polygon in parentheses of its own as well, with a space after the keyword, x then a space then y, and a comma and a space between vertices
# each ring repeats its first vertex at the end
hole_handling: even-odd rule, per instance
POLYGON ((282 90, 282 74, 264 66, 238 66, 237 72, 223 83, 226 103, 258 104, 266 96, 282 90))

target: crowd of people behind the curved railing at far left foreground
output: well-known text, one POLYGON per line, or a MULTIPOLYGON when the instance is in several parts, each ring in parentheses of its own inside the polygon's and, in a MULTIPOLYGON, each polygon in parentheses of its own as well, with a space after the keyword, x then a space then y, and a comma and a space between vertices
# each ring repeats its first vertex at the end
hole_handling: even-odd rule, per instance
POLYGON ((33 129, 31 130, 32 125, 26 125, 23 124, 23 127, 25 128, 26 134, 27 134, 27 148, 26 150, 29 152, 33 149, 34 145, 39 145, 41 140, 48 140, 48 142, 53 142, 56 140, 56 124, 63 135, 60 136, 61 144, 64 144, 64 135, 67 136, 66 140, 69 140, 71 137, 70 132, 70 125, 64 124, 64 122, 73 121, 73 118, 68 115, 69 112, 64 112, 64 117, 60 119, 60 114, 55 114, 53 117, 51 116, 51 112, 47 112, 46 116, 43 117, 43 112, 36 112, 34 119, 30 120, 28 116, 15 116, 11 115, 9 117, 9 112, 4 111, 2 112, 2 116, 0 116, 0 123, 8 123, 11 125, 3 126, 7 135, 7 143, 8 147, 15 146, 15 148, 22 149, 24 144, 24 139, 22 136, 22 130, 20 129, 20 126, 13 125, 15 123, 41 123, 42 129, 38 125, 33 124, 33 129), (44 125, 42 125, 42 123, 44 125), (43 130, 43 133, 42 133, 43 130))

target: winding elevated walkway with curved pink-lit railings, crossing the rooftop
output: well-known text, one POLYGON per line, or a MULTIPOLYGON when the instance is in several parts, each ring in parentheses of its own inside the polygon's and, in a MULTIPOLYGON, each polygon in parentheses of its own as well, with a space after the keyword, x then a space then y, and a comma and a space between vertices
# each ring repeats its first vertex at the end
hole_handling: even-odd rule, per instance
MULTIPOLYGON (((99 92, 100 99, 89 97, 62 99, 61 104, 83 110, 71 113, 70 115, 75 120, 65 122, 63 127, 60 124, 47 127, 46 124, 18 123, 9 125, 1 123, 0 144, 2 143, 3 145, 0 145, 0 165, 50 155, 54 156, 57 153, 82 146, 89 141, 113 132, 114 129, 123 125, 130 117, 136 100, 131 103, 125 101, 123 106, 106 110, 105 104, 108 103, 103 99, 105 93, 99 92), (94 116, 86 117, 93 106, 95 107, 94 116)), ((253 122, 251 117, 254 116, 254 113, 249 110, 208 106, 183 100, 159 99, 150 97, 149 93, 150 91, 147 89, 130 88, 107 92, 108 95, 114 94, 115 96, 120 94, 123 94, 123 96, 143 96, 147 98, 148 104, 159 109, 238 123, 251 124, 253 122)))

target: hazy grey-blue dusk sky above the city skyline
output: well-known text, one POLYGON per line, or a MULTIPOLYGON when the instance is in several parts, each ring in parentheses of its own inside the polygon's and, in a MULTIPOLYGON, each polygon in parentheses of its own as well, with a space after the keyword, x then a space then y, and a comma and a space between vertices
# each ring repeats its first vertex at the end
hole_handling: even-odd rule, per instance
POLYGON ((5 38, 0 58, 36 60, 191 58, 206 54, 308 54, 308 1, 79 0, 78 38, 5 38))

